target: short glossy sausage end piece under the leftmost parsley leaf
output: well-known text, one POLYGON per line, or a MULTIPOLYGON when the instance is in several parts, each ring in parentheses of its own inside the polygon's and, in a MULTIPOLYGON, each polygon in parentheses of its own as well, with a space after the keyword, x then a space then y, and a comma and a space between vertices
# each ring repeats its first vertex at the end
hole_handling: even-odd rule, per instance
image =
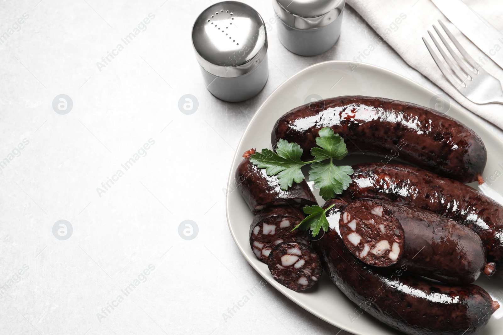
MULTIPOLYGON (((255 152, 255 151, 253 151, 255 152)), ((251 164, 246 156, 237 166, 235 180, 248 207, 257 213, 268 206, 290 205, 293 207, 315 205, 316 198, 305 180, 293 183, 286 191, 282 190, 276 176, 268 176, 266 169, 251 164)))

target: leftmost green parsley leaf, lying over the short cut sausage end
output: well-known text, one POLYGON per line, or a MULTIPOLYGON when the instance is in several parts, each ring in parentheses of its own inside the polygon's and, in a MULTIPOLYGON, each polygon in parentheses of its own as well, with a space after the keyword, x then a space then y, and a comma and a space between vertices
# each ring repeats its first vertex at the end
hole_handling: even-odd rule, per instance
POLYGON ((263 149, 262 153, 255 153, 250 156, 250 162, 259 168, 265 168, 269 176, 278 174, 279 184, 282 190, 287 190, 293 182, 300 183, 304 180, 301 168, 311 162, 303 162, 302 148, 297 143, 288 143, 286 140, 279 140, 276 153, 269 149, 263 149))

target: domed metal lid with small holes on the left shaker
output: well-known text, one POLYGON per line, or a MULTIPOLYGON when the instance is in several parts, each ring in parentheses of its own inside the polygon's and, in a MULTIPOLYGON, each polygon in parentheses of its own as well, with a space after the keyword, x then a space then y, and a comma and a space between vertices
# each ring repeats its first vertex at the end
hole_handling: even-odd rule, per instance
POLYGON ((254 70, 266 56, 262 17, 246 4, 226 1, 208 7, 192 28, 196 58, 209 73, 237 77, 254 70))

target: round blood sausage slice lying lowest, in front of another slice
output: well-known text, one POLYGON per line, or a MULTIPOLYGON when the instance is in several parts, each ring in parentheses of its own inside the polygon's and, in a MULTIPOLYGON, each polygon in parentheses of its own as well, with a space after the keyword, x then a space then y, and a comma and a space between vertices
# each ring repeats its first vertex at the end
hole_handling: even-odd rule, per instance
POLYGON ((297 292, 316 284, 323 272, 314 250, 303 243, 294 242, 274 247, 267 266, 277 282, 297 292))

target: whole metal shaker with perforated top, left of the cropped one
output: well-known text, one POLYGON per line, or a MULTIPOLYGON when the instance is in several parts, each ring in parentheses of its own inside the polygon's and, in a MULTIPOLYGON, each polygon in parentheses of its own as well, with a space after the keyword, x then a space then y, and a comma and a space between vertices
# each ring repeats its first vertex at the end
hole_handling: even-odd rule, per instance
POLYGON ((208 7, 194 23, 192 43, 206 87, 217 98, 243 101, 266 85, 265 23, 248 5, 225 1, 208 7))

